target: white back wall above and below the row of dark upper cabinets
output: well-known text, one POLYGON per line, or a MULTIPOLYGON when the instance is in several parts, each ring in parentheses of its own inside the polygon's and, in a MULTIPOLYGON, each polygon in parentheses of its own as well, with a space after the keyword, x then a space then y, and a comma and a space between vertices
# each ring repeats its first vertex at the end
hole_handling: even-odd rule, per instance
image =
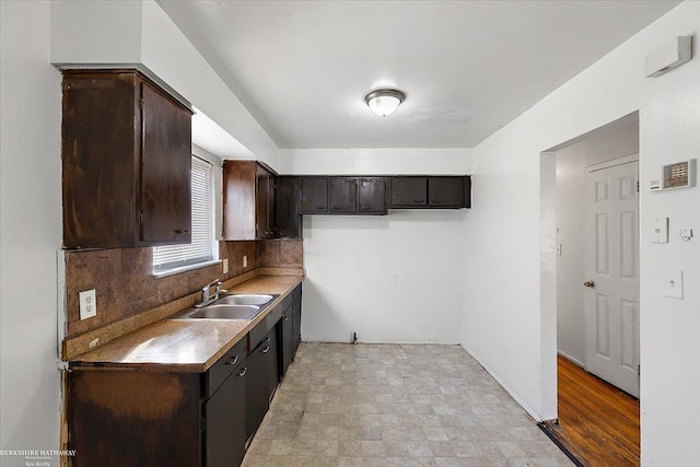
MULTIPOLYGON (((290 174, 471 173, 470 150, 282 150, 280 159, 290 174)), ((305 215, 303 339, 458 343, 466 215, 305 215)))

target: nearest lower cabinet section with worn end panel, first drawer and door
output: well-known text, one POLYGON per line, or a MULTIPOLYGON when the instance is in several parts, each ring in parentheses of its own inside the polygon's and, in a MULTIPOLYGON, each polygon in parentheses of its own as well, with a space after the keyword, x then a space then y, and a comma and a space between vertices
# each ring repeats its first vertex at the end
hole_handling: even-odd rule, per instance
POLYGON ((206 373, 69 373, 72 466, 240 465, 247 439, 245 346, 241 340, 206 373))

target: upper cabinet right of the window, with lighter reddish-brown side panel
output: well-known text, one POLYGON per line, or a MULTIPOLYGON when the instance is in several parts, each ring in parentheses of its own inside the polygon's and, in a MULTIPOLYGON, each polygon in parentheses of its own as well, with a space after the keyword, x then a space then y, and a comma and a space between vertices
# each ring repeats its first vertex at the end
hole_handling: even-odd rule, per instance
POLYGON ((275 236, 275 178, 256 161, 223 162, 223 238, 275 236))

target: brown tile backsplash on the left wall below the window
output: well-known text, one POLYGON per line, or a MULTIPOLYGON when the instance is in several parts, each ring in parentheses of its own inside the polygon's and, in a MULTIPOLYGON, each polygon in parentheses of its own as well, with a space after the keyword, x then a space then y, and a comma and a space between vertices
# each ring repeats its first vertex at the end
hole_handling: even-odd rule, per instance
POLYGON ((229 260, 226 275, 219 262, 161 279, 153 277, 152 248, 66 252, 67 337, 197 292, 214 279, 224 281, 252 271, 260 266, 258 248, 257 242, 220 242, 219 258, 229 260), (243 256, 247 256, 246 268, 243 256), (97 315, 80 320, 79 292, 90 289, 96 292, 97 315))

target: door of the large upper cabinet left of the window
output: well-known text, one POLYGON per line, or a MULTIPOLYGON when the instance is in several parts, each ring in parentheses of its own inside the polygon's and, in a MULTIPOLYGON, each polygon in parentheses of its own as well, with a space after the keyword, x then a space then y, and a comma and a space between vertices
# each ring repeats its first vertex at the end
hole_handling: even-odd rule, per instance
POLYGON ((141 83, 141 236, 153 244, 191 241, 190 116, 141 83))

